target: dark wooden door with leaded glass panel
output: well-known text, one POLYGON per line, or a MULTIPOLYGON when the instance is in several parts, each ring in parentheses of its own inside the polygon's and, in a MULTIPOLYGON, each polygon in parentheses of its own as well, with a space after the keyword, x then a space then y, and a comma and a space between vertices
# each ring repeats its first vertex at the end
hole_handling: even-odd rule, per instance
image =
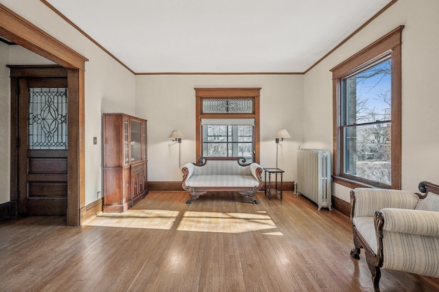
POLYGON ((19 80, 18 211, 67 214, 67 78, 19 80))

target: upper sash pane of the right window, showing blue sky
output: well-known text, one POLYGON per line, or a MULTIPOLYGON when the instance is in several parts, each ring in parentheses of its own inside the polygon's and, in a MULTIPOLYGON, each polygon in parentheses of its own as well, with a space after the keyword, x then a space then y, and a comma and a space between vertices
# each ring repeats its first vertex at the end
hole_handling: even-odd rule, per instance
POLYGON ((346 125, 390 121, 390 62, 385 60, 342 81, 346 125))

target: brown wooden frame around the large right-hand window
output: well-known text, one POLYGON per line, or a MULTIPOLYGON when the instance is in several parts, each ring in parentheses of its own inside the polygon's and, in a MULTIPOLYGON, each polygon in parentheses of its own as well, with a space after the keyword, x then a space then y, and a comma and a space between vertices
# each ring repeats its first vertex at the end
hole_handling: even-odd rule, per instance
POLYGON ((399 25, 385 36, 379 38, 358 53, 331 69, 333 73, 333 182, 351 188, 358 186, 383 187, 401 189, 401 44, 402 30, 399 25), (392 58, 392 182, 390 186, 369 184, 342 174, 342 133, 340 132, 340 82, 342 78, 361 69, 364 64, 379 60, 385 54, 392 58))

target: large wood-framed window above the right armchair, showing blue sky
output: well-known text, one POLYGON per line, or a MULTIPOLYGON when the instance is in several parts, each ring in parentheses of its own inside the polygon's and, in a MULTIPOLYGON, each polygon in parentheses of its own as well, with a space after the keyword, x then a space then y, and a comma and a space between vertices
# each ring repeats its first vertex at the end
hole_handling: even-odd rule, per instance
POLYGON ((401 32, 333 72, 334 182, 401 188, 401 32))

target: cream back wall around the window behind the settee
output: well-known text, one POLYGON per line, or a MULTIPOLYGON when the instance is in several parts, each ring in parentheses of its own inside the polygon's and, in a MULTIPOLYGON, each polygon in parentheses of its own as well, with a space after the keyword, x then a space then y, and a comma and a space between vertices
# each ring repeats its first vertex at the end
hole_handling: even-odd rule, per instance
POLYGON ((202 87, 261 88, 261 165, 276 166, 274 134, 285 128, 292 138, 279 145, 284 180, 296 178, 296 149, 302 143, 303 75, 137 75, 136 114, 148 120, 148 180, 180 181, 178 144, 168 138, 182 131, 182 165, 195 162, 195 90, 202 87))

